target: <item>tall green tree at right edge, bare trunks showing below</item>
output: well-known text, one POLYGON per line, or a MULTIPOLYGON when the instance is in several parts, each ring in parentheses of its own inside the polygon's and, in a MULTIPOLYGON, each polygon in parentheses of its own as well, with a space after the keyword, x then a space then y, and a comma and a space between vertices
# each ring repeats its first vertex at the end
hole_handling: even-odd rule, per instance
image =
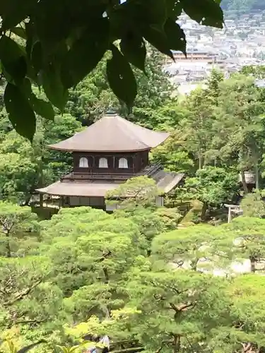
POLYGON ((218 157, 237 164, 243 183, 244 172, 253 170, 258 189, 264 148, 264 103, 254 78, 237 74, 220 83, 216 116, 213 145, 219 150, 218 157))

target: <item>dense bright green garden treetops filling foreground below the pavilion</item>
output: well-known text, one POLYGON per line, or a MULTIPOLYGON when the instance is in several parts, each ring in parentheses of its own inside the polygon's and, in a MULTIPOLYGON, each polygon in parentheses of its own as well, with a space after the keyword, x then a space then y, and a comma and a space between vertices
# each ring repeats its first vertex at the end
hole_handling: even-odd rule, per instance
POLYGON ((136 203, 42 222, 0 203, 1 352, 82 352, 93 334, 115 352, 263 352, 265 220, 177 229, 136 203))

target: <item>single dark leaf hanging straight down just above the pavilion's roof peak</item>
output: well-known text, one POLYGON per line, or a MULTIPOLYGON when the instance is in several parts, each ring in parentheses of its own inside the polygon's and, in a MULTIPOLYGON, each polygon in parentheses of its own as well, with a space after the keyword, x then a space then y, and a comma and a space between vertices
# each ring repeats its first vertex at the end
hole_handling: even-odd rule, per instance
POLYGON ((114 45, 112 59, 107 60, 107 80, 114 94, 131 107, 137 94, 136 80, 129 62, 114 45))

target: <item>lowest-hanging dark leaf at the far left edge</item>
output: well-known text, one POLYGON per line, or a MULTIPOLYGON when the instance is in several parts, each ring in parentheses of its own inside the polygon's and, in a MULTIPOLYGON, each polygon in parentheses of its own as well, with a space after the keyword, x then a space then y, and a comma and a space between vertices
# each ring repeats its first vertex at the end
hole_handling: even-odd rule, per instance
POLYGON ((13 128, 32 142, 36 117, 25 94, 16 85, 8 83, 4 92, 4 102, 13 128))

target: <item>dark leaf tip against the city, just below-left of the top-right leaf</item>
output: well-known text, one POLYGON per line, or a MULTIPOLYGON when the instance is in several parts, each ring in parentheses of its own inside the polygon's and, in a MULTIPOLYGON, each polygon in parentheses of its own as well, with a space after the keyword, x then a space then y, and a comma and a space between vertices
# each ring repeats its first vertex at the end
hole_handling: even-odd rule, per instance
POLYGON ((175 23, 175 20, 168 18, 164 29, 170 49, 180 50, 182 53, 186 54, 187 43, 185 33, 179 25, 175 23))

